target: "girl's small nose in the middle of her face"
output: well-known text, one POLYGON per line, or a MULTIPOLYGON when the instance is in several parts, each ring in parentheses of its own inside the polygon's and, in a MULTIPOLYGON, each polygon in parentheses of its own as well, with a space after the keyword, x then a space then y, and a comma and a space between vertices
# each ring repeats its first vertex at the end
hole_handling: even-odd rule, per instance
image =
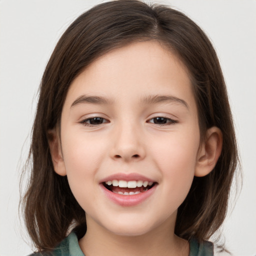
POLYGON ((110 155, 123 161, 141 160, 145 157, 145 147, 141 130, 137 125, 123 124, 113 131, 110 155))

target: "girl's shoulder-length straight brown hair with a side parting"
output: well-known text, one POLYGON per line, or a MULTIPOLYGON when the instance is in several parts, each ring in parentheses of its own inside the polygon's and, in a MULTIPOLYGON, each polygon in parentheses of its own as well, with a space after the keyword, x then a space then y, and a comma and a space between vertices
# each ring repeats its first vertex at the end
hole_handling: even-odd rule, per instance
POLYGON ((22 198, 29 235, 39 250, 53 248, 70 225, 86 231, 85 213, 66 176, 55 173, 47 131, 58 125, 71 81, 97 57, 138 40, 158 40, 186 66, 197 103, 201 138, 217 126, 223 147, 215 168, 194 177, 179 206, 175 233, 207 239, 222 224, 238 162, 236 140, 221 68, 209 39, 186 15, 164 5, 137 0, 98 4, 81 14, 59 39, 42 76, 28 159, 31 174, 22 198))

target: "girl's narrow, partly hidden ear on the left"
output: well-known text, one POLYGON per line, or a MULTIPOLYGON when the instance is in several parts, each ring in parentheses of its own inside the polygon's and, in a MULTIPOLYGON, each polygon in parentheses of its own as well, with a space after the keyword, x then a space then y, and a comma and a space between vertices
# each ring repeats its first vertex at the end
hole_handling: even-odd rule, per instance
POLYGON ((61 175, 66 175, 66 169, 61 152, 61 144, 56 128, 48 130, 48 144, 54 171, 61 175))

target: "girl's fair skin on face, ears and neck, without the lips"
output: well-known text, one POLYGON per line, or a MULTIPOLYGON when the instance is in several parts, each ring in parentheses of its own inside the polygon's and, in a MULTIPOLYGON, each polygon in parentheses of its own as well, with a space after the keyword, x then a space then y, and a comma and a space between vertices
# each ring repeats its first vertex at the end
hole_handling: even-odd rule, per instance
POLYGON ((87 231, 79 240, 86 256, 188 255, 188 242, 174 234, 177 208, 193 176, 214 167, 222 137, 211 127, 200 144, 191 83, 177 56, 159 42, 144 41, 98 58, 72 81, 60 131, 49 131, 52 161, 86 212, 87 231), (108 102, 79 100, 84 95, 108 102), (141 100, 155 95, 172 100, 141 100), (90 124, 93 117, 103 122, 90 124), (155 117, 166 123, 155 123, 155 117), (134 206, 114 203, 99 183, 120 172, 154 180, 155 191, 134 206))

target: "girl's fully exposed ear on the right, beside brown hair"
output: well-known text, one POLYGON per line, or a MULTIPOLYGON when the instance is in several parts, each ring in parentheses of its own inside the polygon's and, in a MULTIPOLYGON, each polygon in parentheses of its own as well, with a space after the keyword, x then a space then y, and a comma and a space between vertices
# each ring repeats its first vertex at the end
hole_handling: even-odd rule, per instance
POLYGON ((222 149, 222 132, 213 126, 207 130, 205 141, 200 146, 194 175, 201 177, 212 171, 222 149))

